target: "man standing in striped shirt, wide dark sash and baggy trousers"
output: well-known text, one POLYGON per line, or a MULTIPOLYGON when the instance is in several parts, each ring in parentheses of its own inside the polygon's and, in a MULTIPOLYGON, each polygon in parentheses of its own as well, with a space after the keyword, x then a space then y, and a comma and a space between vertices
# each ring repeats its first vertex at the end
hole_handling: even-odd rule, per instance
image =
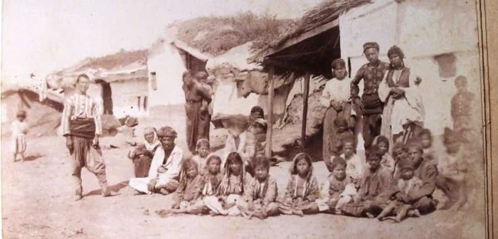
POLYGON ((78 75, 76 78, 76 93, 65 99, 61 119, 66 147, 73 156, 72 176, 75 184, 75 200, 83 198, 81 186, 81 169, 97 176, 102 196, 114 196, 116 193, 107 187, 105 163, 99 146, 102 135, 101 106, 87 95, 90 86, 88 75, 78 75))

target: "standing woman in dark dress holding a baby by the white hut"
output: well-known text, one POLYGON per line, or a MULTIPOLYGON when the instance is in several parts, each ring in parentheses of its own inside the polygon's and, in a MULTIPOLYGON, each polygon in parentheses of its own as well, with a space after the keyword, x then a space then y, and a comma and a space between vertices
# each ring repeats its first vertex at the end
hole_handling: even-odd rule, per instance
MULTIPOLYGON (((199 74, 198 74, 199 75, 199 74)), ((186 139, 189 150, 194 152, 198 139, 209 139, 211 117, 207 105, 211 103, 211 94, 193 79, 190 71, 183 75, 186 112, 186 139), (207 105, 203 105, 203 101, 207 105)))

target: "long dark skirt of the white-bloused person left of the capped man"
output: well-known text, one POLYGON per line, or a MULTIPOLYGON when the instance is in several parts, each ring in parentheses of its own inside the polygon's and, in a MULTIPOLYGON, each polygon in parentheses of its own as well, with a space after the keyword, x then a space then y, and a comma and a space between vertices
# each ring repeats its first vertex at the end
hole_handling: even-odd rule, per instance
MULTIPOLYGON (((338 117, 342 117, 343 119, 346 119, 348 124, 351 124, 350 122, 350 117, 351 117, 351 103, 350 102, 343 102, 342 104, 342 110, 340 112, 337 112, 334 110, 333 107, 329 107, 327 109, 327 112, 325 112, 325 118, 324 118, 324 130, 323 130, 323 160, 329 160, 332 155, 334 155, 334 152, 332 150, 332 142, 337 137, 337 130, 335 129, 334 126, 334 119, 337 119, 338 117)), ((349 125, 351 127, 351 125, 349 125)), ((334 155, 334 156, 339 156, 339 155, 334 155)))

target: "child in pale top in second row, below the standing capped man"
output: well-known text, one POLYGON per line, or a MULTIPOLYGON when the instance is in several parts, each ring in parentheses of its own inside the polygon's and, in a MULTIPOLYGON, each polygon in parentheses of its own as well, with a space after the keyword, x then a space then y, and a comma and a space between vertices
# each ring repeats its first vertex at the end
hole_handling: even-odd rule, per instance
POLYGON ((342 139, 342 144, 341 158, 346 161, 346 175, 351 177, 354 184, 359 186, 361 176, 365 171, 366 161, 356 155, 356 145, 353 137, 342 139))

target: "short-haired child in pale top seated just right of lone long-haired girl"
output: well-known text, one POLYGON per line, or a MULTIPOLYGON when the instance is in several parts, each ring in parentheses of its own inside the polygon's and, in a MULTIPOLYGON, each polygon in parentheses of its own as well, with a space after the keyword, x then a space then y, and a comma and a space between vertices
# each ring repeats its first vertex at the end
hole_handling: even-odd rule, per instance
POLYGON ((353 200, 356 187, 346 174, 346 161, 336 157, 332 161, 332 173, 322 188, 322 198, 317 200, 319 211, 341 214, 341 206, 353 200))

